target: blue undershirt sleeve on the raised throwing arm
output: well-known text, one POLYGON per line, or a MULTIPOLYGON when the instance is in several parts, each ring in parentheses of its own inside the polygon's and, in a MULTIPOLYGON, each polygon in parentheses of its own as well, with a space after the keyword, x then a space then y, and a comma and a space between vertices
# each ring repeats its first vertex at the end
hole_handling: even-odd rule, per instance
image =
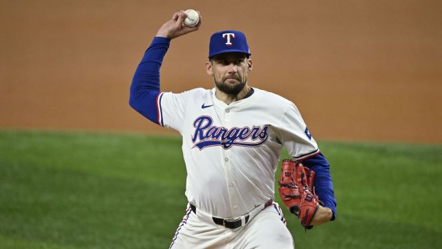
POLYGON ((155 37, 133 75, 129 105, 152 122, 158 121, 157 96, 160 94, 160 67, 171 39, 155 37))

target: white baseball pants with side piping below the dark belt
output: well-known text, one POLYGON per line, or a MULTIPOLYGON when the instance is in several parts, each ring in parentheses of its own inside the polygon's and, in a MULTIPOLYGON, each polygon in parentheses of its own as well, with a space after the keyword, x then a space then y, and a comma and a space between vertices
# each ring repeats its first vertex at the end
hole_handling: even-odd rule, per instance
POLYGON ((294 249, 293 238, 285 224, 282 211, 275 202, 236 229, 217 225, 199 214, 198 209, 195 214, 188 205, 169 249, 294 249))

